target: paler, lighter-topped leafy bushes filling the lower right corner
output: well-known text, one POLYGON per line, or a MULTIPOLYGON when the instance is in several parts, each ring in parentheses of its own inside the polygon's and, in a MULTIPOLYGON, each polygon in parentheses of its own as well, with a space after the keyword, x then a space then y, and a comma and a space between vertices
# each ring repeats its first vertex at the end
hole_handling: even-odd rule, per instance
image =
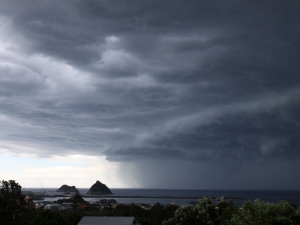
POLYGON ((213 204, 210 198, 199 199, 195 207, 179 208, 163 225, 285 225, 300 224, 299 208, 286 201, 277 204, 256 200, 235 208, 224 197, 213 204))

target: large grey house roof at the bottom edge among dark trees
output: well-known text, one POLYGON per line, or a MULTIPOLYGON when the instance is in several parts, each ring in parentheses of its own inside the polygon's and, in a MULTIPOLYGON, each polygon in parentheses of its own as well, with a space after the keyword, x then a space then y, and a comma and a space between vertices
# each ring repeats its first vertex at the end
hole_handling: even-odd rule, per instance
POLYGON ((84 216, 78 225, 132 225, 138 223, 134 217, 84 216))

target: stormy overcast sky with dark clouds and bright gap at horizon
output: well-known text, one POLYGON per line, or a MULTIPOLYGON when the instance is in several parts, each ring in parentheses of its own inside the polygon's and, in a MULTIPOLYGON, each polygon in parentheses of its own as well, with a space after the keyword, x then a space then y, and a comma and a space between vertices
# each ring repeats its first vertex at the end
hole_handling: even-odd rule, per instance
POLYGON ((292 0, 0 0, 0 178, 299 189, 299 12, 292 0))

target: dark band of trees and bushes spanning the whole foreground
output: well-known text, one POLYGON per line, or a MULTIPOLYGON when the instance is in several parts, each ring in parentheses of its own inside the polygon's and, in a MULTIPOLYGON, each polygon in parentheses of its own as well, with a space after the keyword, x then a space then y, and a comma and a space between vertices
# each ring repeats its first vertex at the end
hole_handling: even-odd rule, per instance
POLYGON ((224 197, 214 203, 210 198, 198 200, 195 206, 179 207, 174 204, 154 204, 144 209, 136 204, 120 204, 99 208, 88 204, 77 192, 71 199, 58 200, 58 203, 71 202, 72 210, 54 211, 25 209, 21 186, 15 181, 1 181, 0 224, 7 225, 77 225, 83 216, 133 216, 142 225, 284 225, 300 224, 300 208, 286 201, 277 204, 256 200, 247 201, 241 208, 224 197), (81 204, 87 208, 78 209, 81 204))

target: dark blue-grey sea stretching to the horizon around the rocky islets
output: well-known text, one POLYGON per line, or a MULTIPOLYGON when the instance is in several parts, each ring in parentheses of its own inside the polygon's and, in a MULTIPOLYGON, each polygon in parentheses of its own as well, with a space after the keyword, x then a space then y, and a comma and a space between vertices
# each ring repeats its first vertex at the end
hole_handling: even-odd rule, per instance
MULTIPOLYGON (((45 188, 46 194, 63 194, 56 192, 55 188, 45 188)), ((79 192, 85 195, 88 188, 79 188, 79 192)), ((145 203, 153 205, 157 202, 166 204, 178 204, 180 206, 190 205, 198 201, 199 198, 210 197, 216 202, 217 197, 224 196, 225 200, 232 199, 236 207, 242 206, 245 201, 255 201, 256 199, 278 203, 280 200, 288 201, 300 206, 300 190, 182 190, 182 189, 131 189, 131 188, 111 188, 113 194, 105 196, 84 197, 88 202, 96 202, 100 199, 113 198, 118 203, 145 203)), ((22 191, 44 192, 41 188, 23 188, 22 191)), ((64 197, 45 197, 44 201, 56 201, 64 197)))

